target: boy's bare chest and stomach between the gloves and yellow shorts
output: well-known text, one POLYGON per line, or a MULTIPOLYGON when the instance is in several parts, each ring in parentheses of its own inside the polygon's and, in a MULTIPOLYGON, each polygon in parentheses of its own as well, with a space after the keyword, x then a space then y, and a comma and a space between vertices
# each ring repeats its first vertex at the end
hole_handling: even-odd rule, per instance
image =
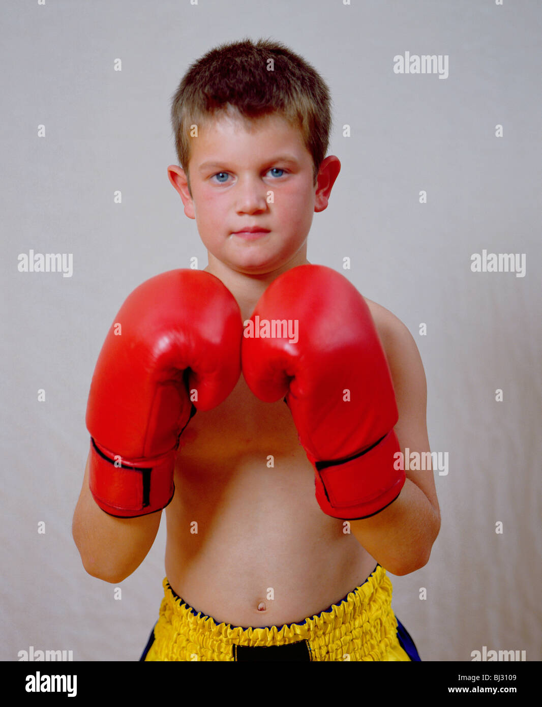
MULTIPOLYGON (((367 304, 378 329, 378 305, 367 304)), ((312 617, 376 565, 343 521, 320 510, 286 404, 261 402, 242 375, 222 404, 184 430, 166 514, 172 589, 233 626, 312 617)))

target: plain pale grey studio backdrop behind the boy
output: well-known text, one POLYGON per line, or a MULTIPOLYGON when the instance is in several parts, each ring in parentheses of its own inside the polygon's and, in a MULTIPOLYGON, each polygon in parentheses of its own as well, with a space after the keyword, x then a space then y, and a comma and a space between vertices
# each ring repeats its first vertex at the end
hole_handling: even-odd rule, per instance
POLYGON ((158 618, 165 516, 122 600, 86 574, 71 537, 90 379, 136 286, 194 256, 207 264, 166 172, 184 71, 221 42, 271 37, 334 101, 342 169, 308 258, 410 329, 431 449, 449 455, 435 472, 440 535, 427 566, 391 575, 394 610, 422 660, 469 661, 483 646, 541 660, 542 6, 34 0, 3 3, 0 18, 0 659, 34 646, 138 660, 158 618), (449 75, 395 74, 405 52, 447 55, 449 75), (30 250, 73 254, 72 276, 18 271, 30 250), (526 254, 526 274, 471 271, 483 250, 526 254))

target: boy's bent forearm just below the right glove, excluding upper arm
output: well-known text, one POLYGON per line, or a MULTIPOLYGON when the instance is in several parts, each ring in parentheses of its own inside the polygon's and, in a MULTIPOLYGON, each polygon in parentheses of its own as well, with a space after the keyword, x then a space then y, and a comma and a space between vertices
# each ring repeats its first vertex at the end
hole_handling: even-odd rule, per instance
POLYGON ((405 575, 429 560, 440 530, 440 513, 410 479, 399 498, 377 515, 351 520, 350 532, 385 569, 405 575))

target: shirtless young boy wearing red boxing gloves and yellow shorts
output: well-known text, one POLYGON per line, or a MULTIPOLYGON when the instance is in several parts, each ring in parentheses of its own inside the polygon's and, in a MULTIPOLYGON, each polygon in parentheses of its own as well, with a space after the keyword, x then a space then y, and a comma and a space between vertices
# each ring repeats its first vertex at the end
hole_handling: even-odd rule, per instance
POLYGON ((405 477, 399 453, 429 452, 425 375, 394 315, 308 264, 340 170, 329 104, 263 40, 213 49, 172 102, 168 174, 208 267, 117 315, 73 518, 86 571, 119 583, 167 506, 144 660, 420 660, 386 570, 423 567, 440 528, 432 472, 405 477))

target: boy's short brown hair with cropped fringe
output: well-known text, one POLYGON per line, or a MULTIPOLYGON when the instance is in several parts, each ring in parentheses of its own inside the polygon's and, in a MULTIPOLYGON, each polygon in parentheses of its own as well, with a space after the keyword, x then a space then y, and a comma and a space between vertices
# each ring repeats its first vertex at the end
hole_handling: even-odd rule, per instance
POLYGON ((189 66, 172 98, 179 164, 188 174, 192 124, 232 107, 247 119, 278 113, 300 128, 316 183, 329 144, 330 104, 322 76, 281 42, 245 39, 220 45, 189 66))

